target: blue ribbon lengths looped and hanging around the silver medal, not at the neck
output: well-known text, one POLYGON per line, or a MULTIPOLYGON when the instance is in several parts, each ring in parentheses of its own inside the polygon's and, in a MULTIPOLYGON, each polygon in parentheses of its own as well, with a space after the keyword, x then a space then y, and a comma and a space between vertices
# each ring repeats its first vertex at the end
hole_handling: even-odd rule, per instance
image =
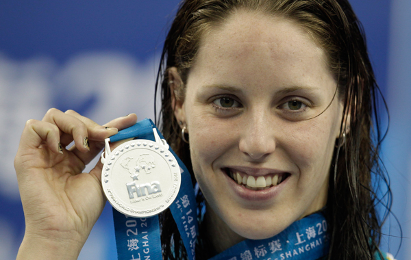
MULTIPOLYGON (((153 129, 157 129, 153 121, 146 118, 132 127, 119 131, 119 133, 110 137, 110 142, 127 138, 155 141, 153 129)), ((160 131, 158 131, 158 135, 164 139, 160 131)), ((171 148, 170 152, 177 159, 182 172, 182 185, 177 198, 170 206, 170 210, 182 237, 188 259, 194 260, 195 245, 199 233, 194 189, 190 172, 171 148)), ((118 259, 162 259, 158 216, 147 219, 132 218, 119 213, 113 208, 113 218, 118 259), (134 223, 136 223, 136 226, 132 226, 134 223)))

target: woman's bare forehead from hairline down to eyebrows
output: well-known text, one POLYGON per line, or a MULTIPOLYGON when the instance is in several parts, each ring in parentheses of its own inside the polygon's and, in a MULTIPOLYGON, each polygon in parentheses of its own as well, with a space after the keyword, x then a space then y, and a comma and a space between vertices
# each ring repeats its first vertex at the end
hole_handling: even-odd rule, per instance
POLYGON ((293 21, 244 12, 203 36, 190 75, 236 75, 242 80, 253 73, 255 79, 275 80, 282 75, 293 80, 303 76, 304 81, 318 81, 332 77, 325 60, 323 49, 293 21))

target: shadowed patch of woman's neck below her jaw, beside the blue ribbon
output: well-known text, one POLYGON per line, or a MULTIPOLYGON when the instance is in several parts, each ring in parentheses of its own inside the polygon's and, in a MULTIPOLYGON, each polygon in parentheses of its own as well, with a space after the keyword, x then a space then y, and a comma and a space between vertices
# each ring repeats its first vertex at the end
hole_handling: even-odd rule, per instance
POLYGON ((206 232, 204 234, 208 244, 214 248, 214 252, 219 254, 227 248, 245 240, 225 224, 223 220, 206 204, 206 216, 204 216, 204 224, 206 232))

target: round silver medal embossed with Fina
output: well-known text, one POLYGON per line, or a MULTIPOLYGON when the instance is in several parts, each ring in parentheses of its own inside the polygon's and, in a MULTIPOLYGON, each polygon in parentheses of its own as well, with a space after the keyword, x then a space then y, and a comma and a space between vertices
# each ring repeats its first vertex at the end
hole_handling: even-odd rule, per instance
POLYGON ((164 211, 177 197, 181 172, 169 144, 153 129, 155 142, 131 140, 110 151, 105 140, 101 172, 103 191, 121 213, 147 218, 164 211))

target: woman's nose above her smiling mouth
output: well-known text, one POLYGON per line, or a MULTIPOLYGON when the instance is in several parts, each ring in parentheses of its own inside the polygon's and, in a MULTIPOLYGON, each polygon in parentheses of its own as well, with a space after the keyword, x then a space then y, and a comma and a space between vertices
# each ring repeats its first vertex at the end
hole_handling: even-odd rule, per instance
POLYGON ((275 151, 273 124, 266 116, 253 116, 242 129, 240 151, 253 160, 264 159, 275 151))

